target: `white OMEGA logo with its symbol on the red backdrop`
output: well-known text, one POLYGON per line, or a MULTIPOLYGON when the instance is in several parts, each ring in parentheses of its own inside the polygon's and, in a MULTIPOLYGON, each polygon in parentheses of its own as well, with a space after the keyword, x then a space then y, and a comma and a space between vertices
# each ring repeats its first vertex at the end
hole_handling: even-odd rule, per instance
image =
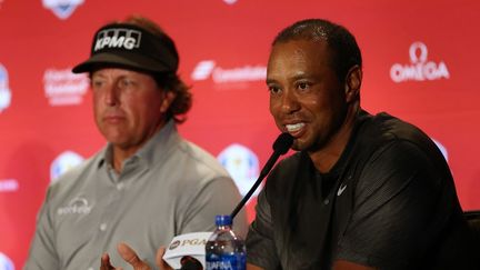
POLYGON ((396 63, 390 69, 390 77, 394 82, 424 81, 449 79, 450 73, 443 61, 428 61, 428 49, 423 42, 410 46, 410 64, 396 63))

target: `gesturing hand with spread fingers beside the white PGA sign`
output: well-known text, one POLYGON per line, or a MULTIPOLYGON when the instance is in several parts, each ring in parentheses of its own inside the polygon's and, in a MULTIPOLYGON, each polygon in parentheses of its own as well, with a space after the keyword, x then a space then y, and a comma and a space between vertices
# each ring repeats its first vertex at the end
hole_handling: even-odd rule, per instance
MULTIPOLYGON (((133 267, 133 270, 152 270, 147 262, 140 260, 137 256, 137 252, 130 248, 127 243, 119 243, 117 250, 120 257, 127 261, 130 266, 133 267)), ((164 247, 160 247, 157 251, 156 262, 160 270, 172 270, 166 261, 163 261, 162 257, 166 252, 164 247)), ((110 262, 110 257, 108 253, 104 253, 101 257, 100 270, 122 270, 122 268, 116 268, 110 262)))

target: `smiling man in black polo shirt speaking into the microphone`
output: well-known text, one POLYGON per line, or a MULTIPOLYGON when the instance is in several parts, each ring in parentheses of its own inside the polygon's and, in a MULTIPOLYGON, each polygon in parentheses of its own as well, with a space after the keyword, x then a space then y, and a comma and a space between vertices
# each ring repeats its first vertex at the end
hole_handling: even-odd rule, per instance
POLYGON ((299 152, 259 194, 249 269, 480 269, 443 156, 412 124, 362 110, 361 81, 341 26, 303 20, 274 39, 270 112, 299 152))

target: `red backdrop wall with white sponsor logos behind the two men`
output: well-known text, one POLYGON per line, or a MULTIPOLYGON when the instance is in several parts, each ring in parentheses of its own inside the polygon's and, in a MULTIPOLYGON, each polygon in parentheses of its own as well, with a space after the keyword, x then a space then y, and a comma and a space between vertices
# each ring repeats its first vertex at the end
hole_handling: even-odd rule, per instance
MULTIPOLYGON (((242 193, 278 136, 264 84, 270 43, 287 24, 321 17, 358 38, 363 108, 390 112, 434 138, 462 207, 480 209, 473 83, 480 51, 472 34, 480 2, 348 1, 0 0, 0 269, 22 268, 48 184, 104 146, 88 76, 70 69, 87 59, 100 26, 130 13, 156 20, 176 40, 179 72, 194 94, 180 132, 216 156, 242 193)), ((133 48, 137 38, 101 32, 97 46, 133 48)), ((247 206, 250 220, 254 203, 247 206)), ((79 196, 58 214, 89 214, 92 206, 79 196)))

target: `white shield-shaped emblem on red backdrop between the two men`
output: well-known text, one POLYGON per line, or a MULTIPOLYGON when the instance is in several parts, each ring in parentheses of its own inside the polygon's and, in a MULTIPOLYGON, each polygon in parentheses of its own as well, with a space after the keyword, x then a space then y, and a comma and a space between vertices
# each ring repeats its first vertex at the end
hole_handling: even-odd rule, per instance
MULTIPOLYGON (((242 196, 247 194, 259 176, 257 154, 238 143, 230 144, 219 153, 217 159, 233 178, 242 196)), ((259 189, 256 191, 256 194, 259 189)))

